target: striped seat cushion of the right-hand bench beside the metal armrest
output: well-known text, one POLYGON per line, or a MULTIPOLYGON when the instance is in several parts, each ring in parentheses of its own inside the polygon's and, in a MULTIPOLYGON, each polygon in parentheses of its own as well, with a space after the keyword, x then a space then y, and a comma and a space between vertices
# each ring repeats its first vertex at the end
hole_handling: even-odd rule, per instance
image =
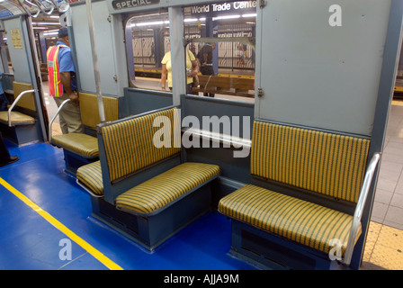
MULTIPOLYGON (((345 253, 353 223, 351 215, 253 184, 247 184, 222 198, 219 211, 325 253, 334 247, 330 245, 332 239, 341 241, 342 253, 345 253)), ((359 235, 361 227, 357 232, 359 235)))

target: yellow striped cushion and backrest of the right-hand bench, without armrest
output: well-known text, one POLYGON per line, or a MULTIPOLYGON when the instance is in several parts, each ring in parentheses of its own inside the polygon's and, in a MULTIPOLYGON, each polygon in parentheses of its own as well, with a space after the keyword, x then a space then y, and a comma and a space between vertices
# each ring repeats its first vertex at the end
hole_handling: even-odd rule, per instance
MULTIPOLYGON (((250 171, 253 182, 223 197, 219 211, 237 220, 237 227, 246 223, 267 232, 267 240, 285 243, 288 239, 325 254, 337 241, 344 255, 354 217, 349 209, 338 209, 358 202, 370 142, 331 131, 255 121, 250 171), (271 190, 266 189, 269 186, 271 190)), ((358 225, 355 242, 362 233, 358 225)), ((233 231, 238 233, 237 228, 233 231)), ((283 261, 259 250, 258 244, 249 244, 250 251, 267 253, 260 257, 283 261)), ((234 251, 242 249, 235 242, 234 251)))

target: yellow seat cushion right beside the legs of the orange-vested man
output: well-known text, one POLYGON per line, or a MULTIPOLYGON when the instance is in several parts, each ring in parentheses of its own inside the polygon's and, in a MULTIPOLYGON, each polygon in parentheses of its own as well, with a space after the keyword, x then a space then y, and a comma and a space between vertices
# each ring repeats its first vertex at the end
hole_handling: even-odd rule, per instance
POLYGON ((98 157, 98 139, 83 133, 69 133, 55 135, 51 139, 52 144, 75 152, 83 157, 98 157))

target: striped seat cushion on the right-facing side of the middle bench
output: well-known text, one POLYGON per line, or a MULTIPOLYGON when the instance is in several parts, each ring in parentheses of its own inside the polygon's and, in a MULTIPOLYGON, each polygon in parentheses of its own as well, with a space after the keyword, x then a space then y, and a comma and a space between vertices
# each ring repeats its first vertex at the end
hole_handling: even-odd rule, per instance
POLYGON ((187 162, 122 193, 116 198, 116 207, 133 213, 152 213, 216 175, 219 166, 187 162))

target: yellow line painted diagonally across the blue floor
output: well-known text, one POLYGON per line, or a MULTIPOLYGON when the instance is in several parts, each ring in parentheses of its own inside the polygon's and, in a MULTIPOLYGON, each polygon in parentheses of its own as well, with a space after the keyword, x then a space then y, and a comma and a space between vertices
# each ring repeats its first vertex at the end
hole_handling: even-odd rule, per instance
POLYGON ((72 230, 68 229, 65 225, 63 225, 60 221, 58 221, 56 218, 54 218, 52 215, 50 215, 47 211, 44 211, 32 202, 27 196, 16 190, 11 184, 8 184, 6 181, 4 181, 3 178, 0 177, 0 184, 2 184, 8 191, 13 193, 17 198, 19 198, 22 202, 27 204, 33 211, 36 211, 38 214, 40 214, 41 217, 43 217, 45 220, 49 221, 50 224, 52 224, 54 227, 59 229, 62 233, 66 234, 68 238, 76 242, 80 247, 83 247, 85 251, 87 251, 89 254, 91 254, 93 257, 95 257, 98 261, 100 261, 104 266, 108 267, 111 270, 123 270, 121 266, 118 266, 115 264, 111 259, 108 257, 105 257, 100 251, 92 247, 90 244, 88 244, 83 238, 80 238, 79 236, 76 235, 72 230))

